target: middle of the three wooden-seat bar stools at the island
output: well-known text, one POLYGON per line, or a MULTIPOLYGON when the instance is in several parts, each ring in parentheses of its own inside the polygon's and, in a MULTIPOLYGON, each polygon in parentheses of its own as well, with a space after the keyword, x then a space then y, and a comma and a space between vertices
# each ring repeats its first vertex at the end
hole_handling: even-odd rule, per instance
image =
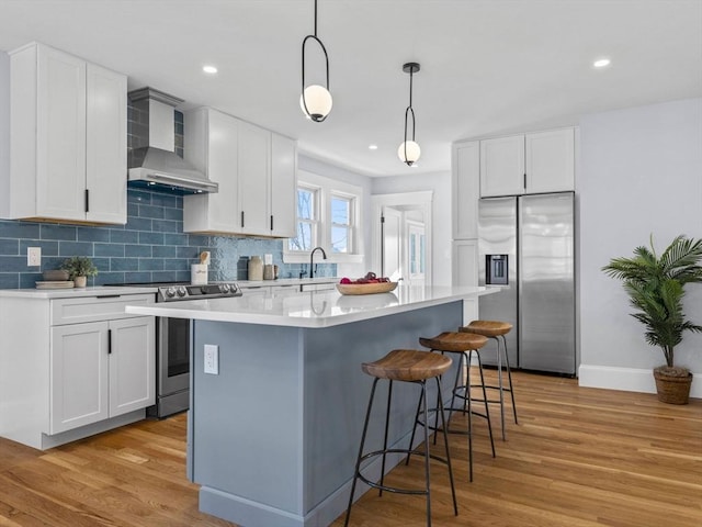
MULTIPOLYGON (((495 457, 495 441, 492 440, 492 425, 490 423, 490 408, 487 404, 487 393, 485 388, 483 388, 483 400, 485 402, 485 413, 479 413, 473 410, 471 401, 475 401, 475 399, 471 397, 471 357, 473 354, 476 355, 478 359, 478 371, 480 372, 480 384, 485 386, 485 380, 483 377, 483 363, 480 362, 480 352, 479 349, 485 346, 487 343, 487 338, 480 335, 474 335, 471 333, 460 333, 460 332, 444 332, 440 335, 437 335, 432 338, 419 338, 419 344, 426 348, 429 348, 431 351, 441 351, 441 355, 449 354, 460 354, 458 359, 458 369, 456 370, 456 378, 453 382, 453 390, 451 396, 451 405, 449 406, 449 422, 451 422, 451 417, 453 416, 453 412, 462 412, 464 415, 468 417, 468 429, 467 430, 456 430, 449 428, 449 434, 464 434, 468 436, 468 468, 469 468, 469 481, 473 481, 473 416, 477 415, 487 421, 487 429, 490 436, 490 448, 492 449, 492 457, 495 457), (463 383, 463 371, 465 367, 466 371, 466 380, 463 383), (463 401, 460 407, 456 407, 455 400, 460 399, 463 401), (466 408, 467 406, 467 408, 466 408)), ((477 384, 476 384, 477 385, 477 384)), ((435 416, 438 418, 438 415, 435 416)), ((419 421, 419 405, 417 406, 417 419, 419 421)), ((420 423, 421 424, 421 423, 420 423)), ((430 427, 433 430, 438 429, 438 423, 434 422, 434 426, 430 427)), ((434 436, 434 441, 437 437, 434 436)), ((414 431, 412 439, 414 441, 414 431)))

